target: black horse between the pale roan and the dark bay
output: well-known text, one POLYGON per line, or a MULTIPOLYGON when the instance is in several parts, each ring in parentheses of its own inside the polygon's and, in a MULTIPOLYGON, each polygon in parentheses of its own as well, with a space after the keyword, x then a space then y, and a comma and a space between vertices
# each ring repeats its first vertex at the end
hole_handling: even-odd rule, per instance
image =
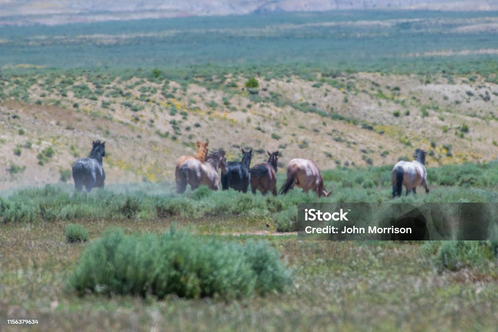
POLYGON ((242 160, 240 162, 228 162, 227 171, 221 174, 223 190, 234 188, 235 190, 247 192, 249 187, 249 165, 252 149, 242 149, 242 160))

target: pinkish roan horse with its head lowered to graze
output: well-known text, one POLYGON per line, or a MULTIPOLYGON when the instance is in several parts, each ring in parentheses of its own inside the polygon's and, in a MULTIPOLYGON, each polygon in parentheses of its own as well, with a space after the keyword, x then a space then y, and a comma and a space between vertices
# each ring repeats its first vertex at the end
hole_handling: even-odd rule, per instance
POLYGON ((309 189, 316 192, 318 198, 328 197, 332 190, 327 192, 323 183, 322 173, 311 159, 296 158, 289 162, 287 166, 287 180, 280 189, 280 193, 286 194, 294 186, 308 192, 309 189))

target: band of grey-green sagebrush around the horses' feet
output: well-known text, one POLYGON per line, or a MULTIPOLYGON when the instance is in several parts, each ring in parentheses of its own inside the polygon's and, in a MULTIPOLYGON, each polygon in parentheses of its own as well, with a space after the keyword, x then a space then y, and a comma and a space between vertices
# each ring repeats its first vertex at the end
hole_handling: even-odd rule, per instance
MULTIPOLYGON (((390 201, 391 169, 392 165, 365 168, 338 167, 324 170, 322 175, 325 187, 327 190, 333 190, 329 200, 390 201)), ((284 176, 278 174, 278 185, 283 183, 284 176)), ((496 191, 498 162, 429 168, 427 178, 431 188, 430 194, 410 195, 402 197, 401 200, 406 202, 498 201, 496 191)), ((132 191, 128 191, 126 186, 118 186, 111 190, 96 189, 90 195, 75 193, 70 184, 23 189, 1 198, 0 222, 71 221, 82 218, 150 220, 170 217, 200 220, 250 215, 263 220, 278 220, 275 221, 275 225, 290 230, 291 225, 284 226, 286 221, 273 214, 293 209, 298 202, 317 200, 316 194, 311 192, 304 194, 300 189, 291 190, 287 195, 273 197, 249 195, 233 190, 215 192, 204 186, 195 191, 187 191, 184 195, 165 191, 162 184, 143 184, 136 188, 132 191)), ((321 198, 320 201, 328 200, 321 198)))

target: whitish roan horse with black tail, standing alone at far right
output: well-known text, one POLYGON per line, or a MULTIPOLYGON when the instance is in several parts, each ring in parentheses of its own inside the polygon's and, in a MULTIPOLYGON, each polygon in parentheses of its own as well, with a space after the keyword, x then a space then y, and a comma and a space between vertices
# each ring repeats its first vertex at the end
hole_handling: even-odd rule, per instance
POLYGON ((425 168, 425 151, 417 149, 413 157, 415 158, 413 162, 400 161, 392 168, 392 197, 401 196, 403 185, 406 188, 406 195, 410 191, 413 191, 415 194, 415 187, 420 184, 425 188, 425 192, 429 192, 429 187, 427 186, 427 169, 425 168))

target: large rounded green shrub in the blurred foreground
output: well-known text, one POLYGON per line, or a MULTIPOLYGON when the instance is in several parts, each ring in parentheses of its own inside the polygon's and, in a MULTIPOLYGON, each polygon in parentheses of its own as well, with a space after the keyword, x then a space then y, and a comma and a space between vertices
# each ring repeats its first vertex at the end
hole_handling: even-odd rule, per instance
POLYGON ((236 299, 282 291, 290 273, 263 241, 243 245, 174 231, 124 235, 109 229, 88 245, 68 283, 80 295, 236 299))

